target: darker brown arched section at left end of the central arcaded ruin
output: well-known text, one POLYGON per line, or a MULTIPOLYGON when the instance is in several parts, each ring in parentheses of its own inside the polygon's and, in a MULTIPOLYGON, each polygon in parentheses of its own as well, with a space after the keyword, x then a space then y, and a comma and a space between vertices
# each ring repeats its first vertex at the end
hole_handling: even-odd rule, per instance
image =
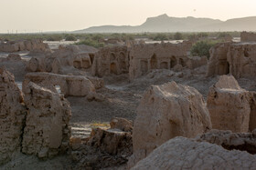
POLYGON ((112 46, 104 47, 95 54, 92 64, 92 75, 120 75, 128 73, 129 57, 128 47, 112 46))

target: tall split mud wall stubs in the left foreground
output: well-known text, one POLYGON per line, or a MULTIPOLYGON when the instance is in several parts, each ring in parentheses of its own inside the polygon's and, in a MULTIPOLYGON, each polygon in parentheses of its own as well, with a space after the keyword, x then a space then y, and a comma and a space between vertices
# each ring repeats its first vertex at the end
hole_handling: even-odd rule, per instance
POLYGON ((21 151, 39 158, 66 153, 71 110, 63 95, 32 82, 23 85, 0 69, 0 165, 21 151))

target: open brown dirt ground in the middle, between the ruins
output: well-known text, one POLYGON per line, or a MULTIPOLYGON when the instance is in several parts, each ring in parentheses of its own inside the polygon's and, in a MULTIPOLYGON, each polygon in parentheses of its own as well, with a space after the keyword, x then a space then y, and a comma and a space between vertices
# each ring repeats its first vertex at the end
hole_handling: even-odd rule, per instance
MULTIPOLYGON (((178 84, 193 86, 207 100, 208 88, 218 81, 218 76, 206 77, 206 70, 206 66, 177 73, 171 70, 154 70, 130 83, 128 75, 105 77, 105 87, 97 91, 105 96, 102 102, 89 102, 85 97, 68 97, 72 110, 72 135, 88 136, 94 124, 108 124, 112 117, 133 121, 140 99, 150 85, 176 81, 178 84)), ((256 91, 255 80, 239 79, 238 82, 242 88, 256 91)))

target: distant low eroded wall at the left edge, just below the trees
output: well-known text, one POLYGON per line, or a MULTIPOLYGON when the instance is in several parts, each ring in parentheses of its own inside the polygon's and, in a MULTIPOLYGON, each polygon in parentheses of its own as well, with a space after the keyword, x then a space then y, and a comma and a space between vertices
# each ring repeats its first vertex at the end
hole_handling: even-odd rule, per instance
POLYGON ((18 51, 34 51, 34 52, 49 52, 48 44, 42 40, 20 40, 20 41, 0 41, 0 52, 14 53, 18 51))

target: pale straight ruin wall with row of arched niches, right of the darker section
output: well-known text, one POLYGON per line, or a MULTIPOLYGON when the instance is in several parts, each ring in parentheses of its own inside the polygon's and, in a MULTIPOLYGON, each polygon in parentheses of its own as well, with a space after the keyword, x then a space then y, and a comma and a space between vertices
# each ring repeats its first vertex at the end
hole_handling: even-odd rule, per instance
POLYGON ((172 69, 176 65, 185 67, 187 52, 191 44, 133 45, 130 51, 130 79, 146 74, 153 69, 172 69))

